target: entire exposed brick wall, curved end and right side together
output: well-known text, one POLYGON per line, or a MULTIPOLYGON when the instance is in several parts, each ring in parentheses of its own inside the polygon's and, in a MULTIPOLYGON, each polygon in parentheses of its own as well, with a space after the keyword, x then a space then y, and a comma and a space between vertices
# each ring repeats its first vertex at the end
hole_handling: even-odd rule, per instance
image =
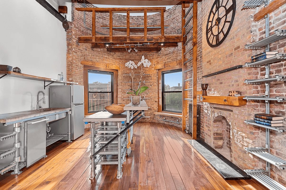
MULTIPOLYGON (((262 19, 259 22, 253 22, 253 15, 257 13, 262 7, 257 9, 241 10, 244 0, 237 0, 237 8, 235 20, 231 30, 225 41, 216 48, 211 48, 206 42, 206 20, 213 1, 202 1, 198 3, 198 63, 197 63, 197 90, 200 91, 201 83, 208 83, 208 95, 228 95, 228 91, 239 90, 242 95, 263 95, 265 93, 264 83, 261 85, 247 85, 244 83, 245 79, 263 78, 265 68, 241 68, 238 70, 222 73, 212 77, 202 78, 203 75, 213 73, 215 71, 227 69, 236 65, 244 65, 245 62, 250 61, 250 57, 262 52, 263 50, 245 50, 244 45, 253 43, 265 36, 265 22, 262 19)), ((91 35, 91 31, 83 26, 83 12, 75 11, 75 7, 82 7, 82 3, 73 1, 72 3, 72 22, 67 31, 67 80, 83 84, 83 66, 80 64, 82 60, 90 60, 100 63, 111 63, 119 66, 121 69, 118 72, 118 103, 128 104, 126 89, 132 86, 129 82, 131 77, 128 74, 131 72, 130 68, 125 67, 125 63, 129 60, 138 63, 142 55, 151 61, 150 68, 143 68, 147 74, 143 80, 149 82, 143 85, 150 89, 142 93, 142 97, 146 97, 146 103, 150 107, 146 111, 146 116, 143 121, 162 122, 159 119, 166 118, 167 120, 181 122, 181 119, 175 117, 167 117, 154 115, 153 112, 158 111, 158 71, 154 70, 157 64, 168 64, 174 61, 179 61, 182 58, 181 44, 177 48, 164 48, 161 52, 152 53, 110 53, 105 49, 92 49, 90 44, 78 44, 77 37, 83 35, 91 35)), ((87 6, 91 6, 87 4, 87 6)), ((276 29, 285 29, 285 13, 286 5, 270 14, 270 28, 271 34, 276 29)), ((189 14, 189 16, 191 13, 189 14)), ((188 17, 189 17, 188 16, 188 17)), ((188 19, 186 18, 186 20, 188 19)), ((109 30, 103 29, 100 26, 109 25, 108 13, 96 14, 96 31, 104 34, 109 34, 109 30)), ((165 29, 165 34, 181 34, 181 7, 175 6, 172 9, 166 10, 164 14, 165 25, 170 25, 165 29)), ((160 24, 160 13, 148 16, 148 25, 160 24)), ((91 28, 91 13, 86 14, 87 26, 91 28)), ((143 17, 130 17, 130 24, 137 25, 143 23, 143 17)), ((114 25, 126 25, 126 16, 113 14, 114 25)), ((188 29, 188 27, 187 27, 188 29)), ((160 31, 148 32, 148 34, 159 34, 160 31)), ((114 35, 122 34, 124 32, 114 32, 114 35)), ((136 33, 135 33, 136 34, 136 33)), ((191 36, 188 35, 188 38, 191 36)), ((190 44, 186 46, 186 50, 190 48, 190 44)), ((286 52, 286 40, 279 40, 271 44, 271 51, 278 50, 279 52, 286 52)), ((192 51, 186 54, 186 58, 192 56, 192 51)), ((278 62, 271 64, 271 76, 275 74, 286 73, 286 63, 278 62)), ((192 61, 187 63, 187 69, 192 68, 192 61)), ((135 73, 138 74, 140 68, 137 68, 135 73)), ((138 75, 136 75, 138 76, 138 75)), ((139 77, 139 76, 138 76, 139 77)), ((192 78, 192 70, 188 72, 187 78, 192 78)), ((139 79, 136 78, 135 81, 139 79)), ((138 84, 138 83, 136 83, 138 84)), ((191 88, 192 81, 187 83, 187 88, 191 88)), ((285 83, 271 82, 271 97, 285 96, 285 83)), ((192 91, 188 91, 188 97, 192 97, 192 91)), ((190 103, 190 102, 188 102, 190 103)), ((253 119, 255 113, 265 112, 265 103, 263 101, 248 101, 247 105, 241 107, 234 107, 229 105, 218 105, 211 103, 201 103, 198 99, 198 104, 201 105, 201 134, 200 137, 208 144, 212 142, 212 127, 213 114, 211 106, 216 106, 225 109, 233 110, 231 121, 228 120, 228 114, 222 113, 228 122, 231 122, 230 135, 232 137, 232 161, 234 164, 242 169, 264 168, 265 162, 258 159, 256 156, 246 153, 245 147, 265 146, 265 130, 263 128, 247 125, 244 123, 246 119, 253 119)), ((271 113, 283 115, 285 117, 285 103, 277 103, 271 101, 271 113)), ((171 123, 168 123, 171 124, 171 123)), ((174 123, 172 123, 174 124, 174 123)), ((285 123, 284 123, 285 124, 285 123)), ((174 124, 181 126, 181 124, 174 124)), ((188 118, 186 127, 188 128, 188 118)), ((280 158, 286 158, 286 135, 271 131, 271 153, 280 158)), ((271 166, 271 177, 281 184, 286 184, 286 172, 271 166)))

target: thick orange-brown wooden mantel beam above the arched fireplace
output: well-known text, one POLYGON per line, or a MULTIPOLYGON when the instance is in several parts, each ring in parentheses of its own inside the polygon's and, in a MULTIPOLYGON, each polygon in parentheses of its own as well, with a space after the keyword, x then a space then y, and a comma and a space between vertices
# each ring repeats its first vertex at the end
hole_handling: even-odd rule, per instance
POLYGON ((214 104, 243 106, 247 103, 247 100, 244 100, 243 98, 244 96, 200 96, 200 101, 214 104))

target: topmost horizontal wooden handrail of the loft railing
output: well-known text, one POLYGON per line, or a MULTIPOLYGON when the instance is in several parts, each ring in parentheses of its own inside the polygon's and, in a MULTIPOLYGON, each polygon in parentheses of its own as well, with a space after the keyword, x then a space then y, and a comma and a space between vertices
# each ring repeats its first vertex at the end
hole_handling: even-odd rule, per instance
POLYGON ((153 11, 155 13, 159 13, 159 12, 161 12, 161 9, 164 9, 164 11, 166 11, 166 7, 132 7, 132 8, 130 8, 130 7, 117 7, 117 8, 97 8, 97 7, 93 7, 93 8, 90 8, 90 7, 79 8, 79 7, 76 7, 77 11, 92 12, 93 10, 95 10, 95 12, 97 12, 97 13, 108 13, 110 10, 112 12, 114 12, 114 13, 116 13, 116 12, 124 12, 124 13, 126 13, 127 10, 130 10, 133 13, 136 12, 136 11, 139 11, 137 13, 141 13, 145 9, 148 11, 148 13, 153 12, 153 11))

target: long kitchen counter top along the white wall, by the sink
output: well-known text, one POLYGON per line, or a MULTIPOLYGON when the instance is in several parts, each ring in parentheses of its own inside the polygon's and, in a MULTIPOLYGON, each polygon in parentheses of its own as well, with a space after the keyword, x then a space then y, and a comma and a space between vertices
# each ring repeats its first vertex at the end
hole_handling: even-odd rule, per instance
POLYGON ((38 119, 41 117, 64 113, 69 111, 70 109, 71 108, 43 108, 39 110, 5 113, 0 115, 0 123, 4 123, 4 125, 9 125, 28 121, 31 119, 38 119))

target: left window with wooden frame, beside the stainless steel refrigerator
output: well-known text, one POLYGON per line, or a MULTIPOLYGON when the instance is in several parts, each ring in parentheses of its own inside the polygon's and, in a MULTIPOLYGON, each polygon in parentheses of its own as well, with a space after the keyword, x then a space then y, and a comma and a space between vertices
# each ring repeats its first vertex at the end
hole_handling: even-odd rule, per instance
POLYGON ((84 66, 85 114, 117 104, 117 71, 84 66), (114 97, 115 94, 115 97, 114 97))

